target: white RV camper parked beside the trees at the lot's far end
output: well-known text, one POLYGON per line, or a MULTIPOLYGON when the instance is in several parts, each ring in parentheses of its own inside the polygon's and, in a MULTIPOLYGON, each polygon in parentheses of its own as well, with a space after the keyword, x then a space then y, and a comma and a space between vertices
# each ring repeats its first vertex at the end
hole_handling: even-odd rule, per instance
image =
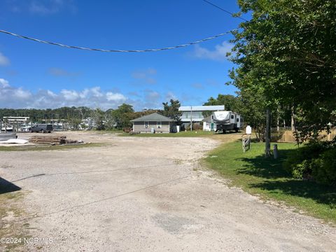
POLYGON ((232 111, 216 111, 213 114, 214 123, 216 123, 216 132, 235 130, 239 132, 242 126, 241 116, 232 111))

